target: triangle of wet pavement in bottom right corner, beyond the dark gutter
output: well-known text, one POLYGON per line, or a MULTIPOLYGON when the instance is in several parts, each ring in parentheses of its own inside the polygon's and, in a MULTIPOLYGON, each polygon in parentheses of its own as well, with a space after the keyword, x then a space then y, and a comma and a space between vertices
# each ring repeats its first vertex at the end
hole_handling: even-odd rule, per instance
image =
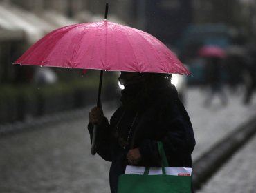
POLYGON ((221 167, 197 193, 255 193, 256 136, 221 167))

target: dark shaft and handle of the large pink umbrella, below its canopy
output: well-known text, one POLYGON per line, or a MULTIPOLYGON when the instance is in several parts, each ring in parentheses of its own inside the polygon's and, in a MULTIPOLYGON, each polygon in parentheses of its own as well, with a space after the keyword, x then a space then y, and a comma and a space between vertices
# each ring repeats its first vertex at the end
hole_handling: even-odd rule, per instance
MULTIPOLYGON (((100 70, 100 83, 98 89, 98 99, 97 99, 97 107, 102 108, 100 96, 101 96, 101 88, 102 88, 102 77, 103 77, 103 70, 100 70)), ((93 139, 91 140, 91 154, 95 155, 97 151, 96 146, 96 136, 97 136, 97 125, 93 125, 93 139)))

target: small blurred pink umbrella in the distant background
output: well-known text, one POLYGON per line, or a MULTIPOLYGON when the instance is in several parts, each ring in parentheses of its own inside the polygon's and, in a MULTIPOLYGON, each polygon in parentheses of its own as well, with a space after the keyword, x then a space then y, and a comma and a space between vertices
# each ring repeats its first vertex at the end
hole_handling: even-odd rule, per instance
POLYGON ((217 57, 217 58, 226 57, 225 50, 223 50, 223 48, 220 48, 219 46, 216 46, 216 45, 205 45, 199 49, 198 54, 201 57, 217 57))

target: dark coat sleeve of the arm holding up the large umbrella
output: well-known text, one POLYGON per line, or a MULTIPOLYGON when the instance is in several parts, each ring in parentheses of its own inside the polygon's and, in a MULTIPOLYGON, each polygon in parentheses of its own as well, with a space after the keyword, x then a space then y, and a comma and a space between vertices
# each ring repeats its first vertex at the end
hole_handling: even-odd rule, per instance
MULTIPOLYGON (((88 124, 88 130, 92 141, 93 124, 88 124)), ((106 117, 104 117, 100 125, 97 125, 95 144, 97 154, 99 154, 104 160, 111 161, 111 129, 106 117)))

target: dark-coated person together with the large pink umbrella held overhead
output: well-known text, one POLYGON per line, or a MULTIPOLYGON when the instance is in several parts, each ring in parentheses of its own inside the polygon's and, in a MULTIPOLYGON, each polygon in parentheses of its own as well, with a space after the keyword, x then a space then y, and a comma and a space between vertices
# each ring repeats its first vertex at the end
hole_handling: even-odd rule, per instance
POLYGON ((161 165, 157 141, 170 166, 192 167, 190 118, 169 74, 191 74, 166 45, 147 32, 104 21, 64 26, 46 34, 16 65, 100 70, 97 108, 89 113, 91 153, 111 161, 111 192, 130 165, 161 165), (103 71, 121 71, 122 105, 110 120, 100 108, 103 71), (140 73, 141 72, 141 73, 140 73), (153 73, 154 72, 154 73, 153 73))

